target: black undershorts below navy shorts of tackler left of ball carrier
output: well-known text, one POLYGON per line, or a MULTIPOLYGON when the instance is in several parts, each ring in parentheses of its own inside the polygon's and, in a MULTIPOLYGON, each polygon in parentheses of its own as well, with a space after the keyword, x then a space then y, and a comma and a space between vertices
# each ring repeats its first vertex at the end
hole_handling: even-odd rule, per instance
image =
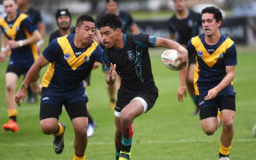
MULTIPOLYGON (((71 120, 76 117, 88 116, 85 101, 77 101, 71 104, 66 104, 64 106, 71 120)), ((51 118, 51 117, 55 117, 59 119, 61 112, 62 112, 62 104, 41 103, 40 120, 45 118, 51 118)))

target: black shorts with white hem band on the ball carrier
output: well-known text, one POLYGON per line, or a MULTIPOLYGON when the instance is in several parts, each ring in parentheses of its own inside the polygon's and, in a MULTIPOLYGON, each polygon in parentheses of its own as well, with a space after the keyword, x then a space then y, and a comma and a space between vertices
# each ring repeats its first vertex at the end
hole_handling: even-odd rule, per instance
POLYGON ((117 94, 115 116, 119 117, 122 109, 133 99, 140 100, 144 106, 144 112, 148 112, 148 110, 153 108, 157 98, 158 89, 156 86, 143 92, 124 92, 119 90, 117 94))

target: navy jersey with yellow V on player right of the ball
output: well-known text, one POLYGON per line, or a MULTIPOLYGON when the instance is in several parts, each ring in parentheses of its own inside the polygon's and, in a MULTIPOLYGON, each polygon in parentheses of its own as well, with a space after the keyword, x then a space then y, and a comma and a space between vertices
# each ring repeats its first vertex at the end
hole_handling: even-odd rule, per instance
MULTIPOLYGON (((196 95, 207 95, 208 90, 220 84, 226 76, 226 66, 236 65, 236 45, 227 36, 220 36, 217 44, 205 43, 204 34, 193 37, 188 42, 188 54, 196 54, 194 87, 196 95)), ((222 93, 234 94, 233 82, 222 93), (233 93, 232 93, 233 92, 233 93)))

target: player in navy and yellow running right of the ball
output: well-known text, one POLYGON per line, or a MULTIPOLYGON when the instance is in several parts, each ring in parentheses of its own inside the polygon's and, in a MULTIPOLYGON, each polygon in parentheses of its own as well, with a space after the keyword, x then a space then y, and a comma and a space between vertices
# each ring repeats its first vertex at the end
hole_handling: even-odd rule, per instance
POLYGON ((196 55, 194 85, 199 96, 201 125, 207 135, 212 135, 220 126, 217 118, 220 109, 223 130, 219 155, 220 160, 228 160, 236 112, 233 88, 236 45, 220 34, 222 14, 219 9, 206 7, 201 16, 204 34, 193 37, 188 43, 189 57, 196 55))

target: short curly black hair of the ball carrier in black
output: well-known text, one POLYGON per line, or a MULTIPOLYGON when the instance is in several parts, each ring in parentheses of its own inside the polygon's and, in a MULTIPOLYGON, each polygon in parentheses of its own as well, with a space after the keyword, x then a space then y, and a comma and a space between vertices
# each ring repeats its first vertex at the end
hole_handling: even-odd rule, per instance
POLYGON ((116 14, 107 13, 99 17, 96 26, 99 29, 107 26, 116 29, 122 27, 122 22, 116 14))

